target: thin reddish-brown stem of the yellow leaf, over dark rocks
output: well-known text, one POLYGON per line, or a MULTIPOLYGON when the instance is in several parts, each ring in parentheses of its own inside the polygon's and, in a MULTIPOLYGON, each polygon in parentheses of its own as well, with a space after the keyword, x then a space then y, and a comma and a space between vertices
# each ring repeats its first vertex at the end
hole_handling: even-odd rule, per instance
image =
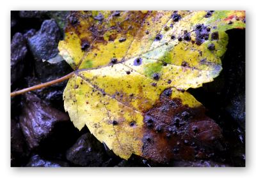
POLYGON ((38 85, 35 85, 35 86, 32 86, 32 87, 28 87, 26 89, 21 89, 19 91, 13 91, 11 93, 11 97, 17 96, 19 94, 27 93, 29 91, 33 91, 33 90, 36 90, 36 89, 42 89, 44 87, 48 87, 48 86, 51 86, 51 85, 54 85, 54 84, 58 84, 60 82, 68 80, 68 78, 72 77, 73 74, 74 74, 74 71, 72 71, 71 73, 68 73, 67 75, 65 75, 65 76, 63 76, 61 78, 57 78, 55 80, 52 80, 50 82, 45 82, 43 84, 38 84, 38 85))

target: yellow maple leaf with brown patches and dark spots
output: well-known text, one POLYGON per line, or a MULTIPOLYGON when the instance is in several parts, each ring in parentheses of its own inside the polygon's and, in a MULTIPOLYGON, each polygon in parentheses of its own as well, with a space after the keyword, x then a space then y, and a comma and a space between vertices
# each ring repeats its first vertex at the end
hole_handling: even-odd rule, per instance
POLYGON ((244 11, 73 12, 58 48, 76 70, 63 93, 74 126, 86 125, 124 159, 190 159, 185 140, 211 142, 221 132, 186 90, 219 75, 225 31, 244 28, 244 17, 244 11))

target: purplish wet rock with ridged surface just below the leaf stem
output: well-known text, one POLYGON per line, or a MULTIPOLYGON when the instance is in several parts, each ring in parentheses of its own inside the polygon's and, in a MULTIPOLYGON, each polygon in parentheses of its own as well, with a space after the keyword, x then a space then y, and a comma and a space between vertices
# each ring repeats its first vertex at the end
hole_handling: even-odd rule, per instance
POLYGON ((51 134, 57 122, 68 121, 69 117, 56 108, 47 106, 34 94, 28 93, 25 97, 22 115, 20 115, 20 126, 32 149, 51 134))

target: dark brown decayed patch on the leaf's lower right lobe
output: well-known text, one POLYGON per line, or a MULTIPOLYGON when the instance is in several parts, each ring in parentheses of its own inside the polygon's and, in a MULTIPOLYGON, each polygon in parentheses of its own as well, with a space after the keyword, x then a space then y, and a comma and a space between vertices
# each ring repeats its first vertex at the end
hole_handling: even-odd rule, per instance
POLYGON ((164 91, 145 114, 143 156, 166 163, 170 159, 204 159, 212 148, 220 149, 220 127, 205 115, 205 108, 182 105, 179 98, 170 99, 171 95, 171 89, 164 91))

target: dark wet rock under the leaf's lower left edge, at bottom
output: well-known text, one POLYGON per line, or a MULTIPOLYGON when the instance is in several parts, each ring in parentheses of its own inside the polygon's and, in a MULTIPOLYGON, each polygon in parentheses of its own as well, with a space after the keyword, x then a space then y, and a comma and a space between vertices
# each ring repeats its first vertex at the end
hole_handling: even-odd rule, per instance
POLYGON ((104 156, 102 144, 90 133, 86 133, 78 138, 67 151, 68 161, 83 167, 100 167, 104 156))

